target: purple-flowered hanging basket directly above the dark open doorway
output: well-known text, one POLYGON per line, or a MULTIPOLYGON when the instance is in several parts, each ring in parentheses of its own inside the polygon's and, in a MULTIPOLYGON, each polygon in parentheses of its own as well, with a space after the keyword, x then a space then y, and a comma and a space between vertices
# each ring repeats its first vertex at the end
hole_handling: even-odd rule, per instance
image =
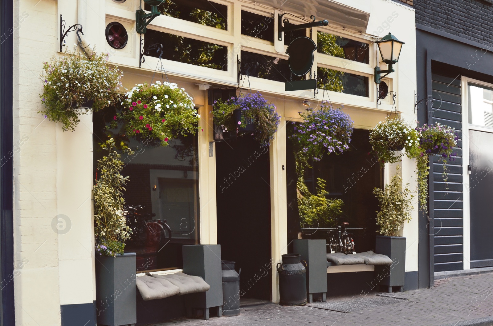
MULTIPOLYGON (((261 145, 269 146, 279 126, 281 117, 277 107, 260 93, 214 101, 214 124, 224 133, 252 134, 261 145)), ((223 137, 224 138, 224 137, 223 137)))

